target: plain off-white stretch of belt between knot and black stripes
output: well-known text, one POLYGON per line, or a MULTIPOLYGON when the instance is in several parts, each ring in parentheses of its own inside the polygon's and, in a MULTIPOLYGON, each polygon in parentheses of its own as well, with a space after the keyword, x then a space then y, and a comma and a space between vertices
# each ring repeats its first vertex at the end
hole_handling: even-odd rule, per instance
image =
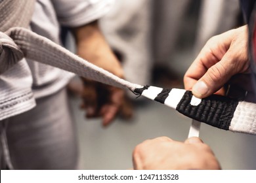
MULTIPOLYGON (((13 27, 9 29, 6 34, 11 37, 13 41, 12 44, 14 45, 15 43, 18 46, 16 49, 22 50, 25 58, 33 59, 53 67, 58 67, 79 76, 90 78, 118 88, 129 88, 129 90, 132 91, 134 91, 135 88, 142 88, 142 86, 138 84, 123 80, 112 75, 112 73, 89 63, 89 61, 79 58, 79 56, 76 56, 62 46, 59 46, 49 39, 41 37, 28 29, 13 27)), ((9 65, 9 63, 3 63, 1 68, 8 68, 7 65, 9 65)))

